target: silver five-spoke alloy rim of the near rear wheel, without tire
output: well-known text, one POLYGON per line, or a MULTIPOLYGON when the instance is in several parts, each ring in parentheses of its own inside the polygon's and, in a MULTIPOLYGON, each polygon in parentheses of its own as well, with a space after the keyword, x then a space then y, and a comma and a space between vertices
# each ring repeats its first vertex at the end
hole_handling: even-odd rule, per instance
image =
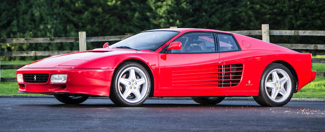
POLYGON ((272 70, 265 81, 265 90, 273 102, 285 101, 292 92, 290 76, 282 69, 272 70))

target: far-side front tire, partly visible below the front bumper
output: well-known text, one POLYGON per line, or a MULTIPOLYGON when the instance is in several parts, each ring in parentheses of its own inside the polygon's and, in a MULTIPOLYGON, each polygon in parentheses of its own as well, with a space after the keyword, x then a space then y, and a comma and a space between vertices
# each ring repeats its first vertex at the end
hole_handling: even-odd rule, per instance
POLYGON ((80 104, 85 102, 89 96, 74 96, 68 94, 58 94, 54 95, 56 100, 64 104, 80 104))

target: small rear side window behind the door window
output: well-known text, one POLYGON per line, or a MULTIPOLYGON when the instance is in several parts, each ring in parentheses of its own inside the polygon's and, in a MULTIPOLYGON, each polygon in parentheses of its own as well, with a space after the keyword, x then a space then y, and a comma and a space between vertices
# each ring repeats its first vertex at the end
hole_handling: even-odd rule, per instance
POLYGON ((236 41, 231 35, 216 34, 220 52, 239 50, 236 41))

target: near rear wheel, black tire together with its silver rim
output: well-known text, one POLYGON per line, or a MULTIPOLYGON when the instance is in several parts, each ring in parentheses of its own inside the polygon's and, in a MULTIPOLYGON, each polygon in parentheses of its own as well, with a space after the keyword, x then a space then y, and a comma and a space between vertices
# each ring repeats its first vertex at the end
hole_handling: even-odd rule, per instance
POLYGON ((254 100, 259 105, 267 107, 286 105, 294 93, 293 79, 290 70, 284 65, 278 63, 268 65, 259 83, 258 96, 253 96, 254 100))

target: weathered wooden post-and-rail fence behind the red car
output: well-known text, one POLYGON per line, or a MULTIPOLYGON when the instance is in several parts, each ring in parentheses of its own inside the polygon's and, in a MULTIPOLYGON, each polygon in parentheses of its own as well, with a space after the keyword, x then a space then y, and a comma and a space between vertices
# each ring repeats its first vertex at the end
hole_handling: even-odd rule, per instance
MULTIPOLYGON (((270 36, 325 36, 325 30, 270 30, 269 24, 262 24, 261 30, 232 30, 236 34, 245 36, 262 36, 262 40, 270 42, 270 36)), ((85 31, 79 31, 79 37, 63 37, 63 38, 12 38, 0 39, 0 43, 65 43, 79 42, 79 51, 86 50, 86 42, 104 42, 104 41, 120 41, 132 36, 125 34, 120 36, 99 36, 86 37, 85 31)), ((325 50, 325 44, 277 44, 289 49, 304 49, 304 50, 325 50)), ((1 56, 51 56, 57 54, 73 53, 72 51, 7 51, 1 52, 1 56)), ((313 63, 325 63, 325 59, 314 58, 313 63)), ((4 64, 0 69, 19 69, 22 64, 4 64)), ((325 77, 325 73, 317 72, 317 76, 325 77)), ((1 78, 1 71, 0 71, 1 78)), ((1 78, 0 82, 15 82, 16 78, 1 78)))

